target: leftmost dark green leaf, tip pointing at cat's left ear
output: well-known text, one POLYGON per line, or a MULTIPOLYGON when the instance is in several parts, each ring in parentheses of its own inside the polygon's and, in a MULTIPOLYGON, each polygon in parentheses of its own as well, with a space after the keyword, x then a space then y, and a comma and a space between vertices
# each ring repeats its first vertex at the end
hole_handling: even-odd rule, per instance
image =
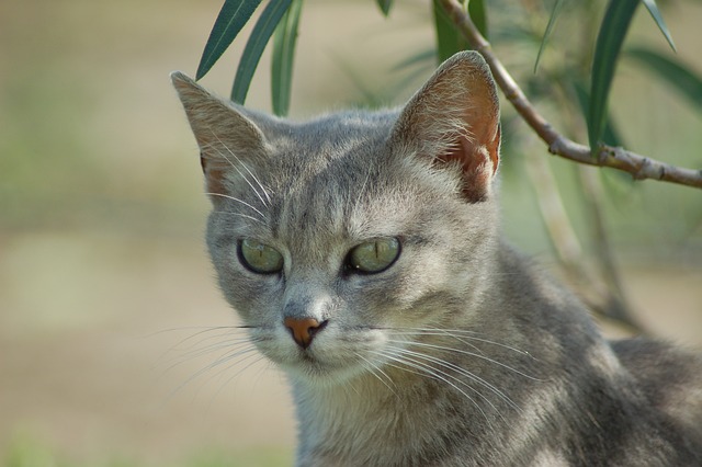
POLYGON ((202 53, 195 79, 204 77, 222 57, 261 0, 225 0, 202 53))

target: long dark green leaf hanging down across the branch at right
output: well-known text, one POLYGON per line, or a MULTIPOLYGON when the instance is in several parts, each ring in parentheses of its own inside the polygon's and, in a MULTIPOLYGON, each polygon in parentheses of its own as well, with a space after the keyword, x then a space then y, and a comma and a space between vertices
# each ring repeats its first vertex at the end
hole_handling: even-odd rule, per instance
POLYGON ((608 99, 619 54, 639 0, 610 0, 600 26, 592 59, 588 139, 590 150, 598 150, 607 124, 608 99))

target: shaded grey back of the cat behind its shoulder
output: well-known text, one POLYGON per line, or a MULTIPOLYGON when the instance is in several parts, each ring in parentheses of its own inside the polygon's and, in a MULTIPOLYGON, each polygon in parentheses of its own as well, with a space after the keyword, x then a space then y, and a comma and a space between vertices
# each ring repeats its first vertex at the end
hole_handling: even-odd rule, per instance
POLYGON ((612 342, 650 405, 702 456, 702 355, 645 339, 612 342))

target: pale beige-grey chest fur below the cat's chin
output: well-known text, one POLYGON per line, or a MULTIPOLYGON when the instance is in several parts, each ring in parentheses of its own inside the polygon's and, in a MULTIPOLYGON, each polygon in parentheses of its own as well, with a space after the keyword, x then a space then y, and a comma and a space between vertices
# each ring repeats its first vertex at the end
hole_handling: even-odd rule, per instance
MULTIPOLYGON (((367 394, 348 385, 298 401, 298 465, 428 466, 455 447, 449 433, 465 414, 448 394, 383 387, 367 394)), ((472 437, 463 433, 465 444, 472 437)))

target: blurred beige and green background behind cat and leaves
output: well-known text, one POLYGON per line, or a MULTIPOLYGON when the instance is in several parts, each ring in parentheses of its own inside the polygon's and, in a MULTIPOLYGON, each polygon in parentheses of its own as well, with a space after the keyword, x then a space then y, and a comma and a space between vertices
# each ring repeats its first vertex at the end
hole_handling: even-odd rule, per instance
MULTIPOLYGON (((396 3, 386 20, 371 0, 306 2, 294 117, 397 104, 427 78, 395 86, 405 78, 396 65, 433 44, 428 2, 396 3)), ((199 374, 213 355, 186 358, 201 327, 236 319, 203 247, 197 149, 168 73, 194 75, 220 5, 0 3, 0 465, 292 462, 281 374, 263 362, 199 374)), ((679 58, 702 72, 702 2, 665 7, 679 58)), ((641 10, 630 41, 663 43, 641 10)), ((220 95, 242 43, 203 80, 220 95)), ((535 58, 496 47, 514 64, 535 58)), ((267 111, 268 62, 248 99, 267 111)), ((702 167, 700 113, 641 75, 623 64, 613 90, 631 149, 702 167)), ((537 144, 526 149, 547 157, 537 144)), ((506 232, 551 264, 521 159, 503 159, 506 232)), ((548 163, 576 230, 586 229, 571 164, 548 163)), ((612 193, 605 219, 638 318, 657 337, 701 348, 702 192, 649 181, 612 193)))

